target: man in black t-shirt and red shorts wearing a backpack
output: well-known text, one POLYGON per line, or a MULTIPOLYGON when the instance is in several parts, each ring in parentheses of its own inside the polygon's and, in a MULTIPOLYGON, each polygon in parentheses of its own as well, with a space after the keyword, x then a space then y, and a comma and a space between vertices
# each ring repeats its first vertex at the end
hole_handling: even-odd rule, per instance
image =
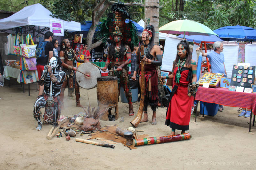
MULTIPOLYGON (((44 70, 44 66, 48 65, 49 60, 53 57, 53 44, 51 43, 53 39, 53 33, 51 31, 47 31, 44 34, 44 41, 48 41, 45 45, 45 56, 36 58, 36 68, 38 72, 38 77, 41 78, 42 71, 44 70)), ((43 41, 43 42, 44 42, 43 41)), ((36 48, 38 45, 36 46, 36 48)), ((44 89, 44 85, 39 85, 39 94, 38 96, 42 95, 44 89)))

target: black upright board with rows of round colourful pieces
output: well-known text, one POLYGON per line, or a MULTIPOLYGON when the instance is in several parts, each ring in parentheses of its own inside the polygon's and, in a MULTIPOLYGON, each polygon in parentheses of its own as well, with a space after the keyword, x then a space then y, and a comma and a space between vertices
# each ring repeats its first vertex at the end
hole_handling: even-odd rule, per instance
POLYGON ((252 88, 255 79, 255 66, 238 66, 234 64, 231 76, 231 85, 252 88))

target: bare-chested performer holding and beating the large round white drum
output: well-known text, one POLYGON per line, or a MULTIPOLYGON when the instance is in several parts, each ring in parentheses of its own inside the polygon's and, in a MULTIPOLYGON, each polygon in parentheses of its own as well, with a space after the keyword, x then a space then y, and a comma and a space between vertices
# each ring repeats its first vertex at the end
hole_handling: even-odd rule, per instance
POLYGON ((60 59, 62 61, 63 71, 66 73, 66 78, 63 82, 61 87, 60 93, 60 100, 63 105, 63 98, 64 98, 64 91, 65 88, 68 86, 69 89, 74 89, 75 86, 75 94, 76 94, 76 107, 82 107, 80 105, 80 89, 79 85, 76 82, 76 75, 74 71, 77 71, 76 67, 73 67, 73 60, 76 60, 80 63, 89 62, 88 60, 84 59, 81 60, 77 57, 74 50, 70 48, 70 42, 68 39, 63 39, 61 41, 61 51, 60 51, 60 59))

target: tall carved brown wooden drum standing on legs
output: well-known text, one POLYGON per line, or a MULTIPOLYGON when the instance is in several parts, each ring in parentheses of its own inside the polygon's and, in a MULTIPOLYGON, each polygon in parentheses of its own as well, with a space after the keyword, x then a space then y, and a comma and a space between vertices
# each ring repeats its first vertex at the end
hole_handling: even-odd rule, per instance
MULTIPOLYGON (((107 107, 115 107, 115 119, 118 119, 118 85, 116 76, 97 78, 97 100, 100 110, 107 107)), ((111 110, 106 112, 101 119, 109 120, 108 113, 111 115, 111 110)))

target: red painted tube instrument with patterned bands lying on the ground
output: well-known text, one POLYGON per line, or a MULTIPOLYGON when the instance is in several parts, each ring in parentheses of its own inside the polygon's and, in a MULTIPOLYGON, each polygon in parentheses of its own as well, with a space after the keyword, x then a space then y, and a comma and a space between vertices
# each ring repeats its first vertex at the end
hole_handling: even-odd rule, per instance
POLYGON ((133 146, 142 146, 142 145, 149 145, 149 144, 161 144, 165 142, 187 140, 190 138, 191 138, 190 133, 182 133, 178 135, 169 135, 164 137, 148 137, 143 139, 133 139, 132 144, 133 146))

